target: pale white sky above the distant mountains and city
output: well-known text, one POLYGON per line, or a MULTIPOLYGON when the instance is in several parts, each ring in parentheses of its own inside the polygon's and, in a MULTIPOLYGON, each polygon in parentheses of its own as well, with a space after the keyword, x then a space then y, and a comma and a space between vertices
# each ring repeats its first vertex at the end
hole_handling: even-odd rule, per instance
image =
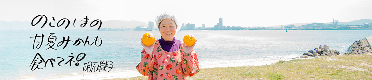
MULTIPOLYGON (((168 12, 177 24, 213 27, 267 27, 303 22, 372 19, 372 0, 1 0, 0 21, 32 21, 36 15, 56 20, 155 21, 168 12)), ((104 23, 103 23, 104 24, 104 23)))

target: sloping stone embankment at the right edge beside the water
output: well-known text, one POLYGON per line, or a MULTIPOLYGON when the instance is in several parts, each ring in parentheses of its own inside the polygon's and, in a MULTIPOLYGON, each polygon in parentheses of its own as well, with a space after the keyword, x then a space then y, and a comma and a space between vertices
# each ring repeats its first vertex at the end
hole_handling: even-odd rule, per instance
POLYGON ((360 39, 359 41, 355 41, 353 44, 350 45, 349 49, 347 50, 347 55, 353 54, 363 54, 363 53, 371 53, 372 49, 371 46, 368 44, 367 39, 360 39))

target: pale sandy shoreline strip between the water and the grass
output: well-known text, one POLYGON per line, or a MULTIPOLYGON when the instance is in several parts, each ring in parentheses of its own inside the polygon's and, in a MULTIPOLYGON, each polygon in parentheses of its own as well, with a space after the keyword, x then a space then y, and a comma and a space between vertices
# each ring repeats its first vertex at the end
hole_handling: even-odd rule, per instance
MULTIPOLYGON (((298 56, 298 55, 296 55, 298 56)), ((258 58, 258 59, 248 59, 241 62, 225 62, 225 63, 214 63, 214 64, 207 64, 201 65, 201 69, 208 69, 208 68, 216 68, 216 67, 241 67, 241 66, 262 66, 262 65, 273 65, 280 60, 289 61, 295 60, 300 58, 295 58, 296 56, 286 56, 285 58, 282 57, 274 57, 274 58, 258 58), (292 59, 295 58, 295 59, 292 59)), ((301 58, 301 59, 312 59, 312 58, 301 58)), ((96 72, 96 73, 65 73, 65 74, 50 74, 45 77, 37 77, 35 74, 26 74, 20 75, 16 79, 22 80, 68 80, 68 79, 79 79, 79 80, 89 80, 89 79, 117 79, 117 78, 130 78, 130 77, 138 77, 143 76, 142 74, 138 73, 137 70, 123 70, 123 71, 115 71, 115 72, 96 72)))

